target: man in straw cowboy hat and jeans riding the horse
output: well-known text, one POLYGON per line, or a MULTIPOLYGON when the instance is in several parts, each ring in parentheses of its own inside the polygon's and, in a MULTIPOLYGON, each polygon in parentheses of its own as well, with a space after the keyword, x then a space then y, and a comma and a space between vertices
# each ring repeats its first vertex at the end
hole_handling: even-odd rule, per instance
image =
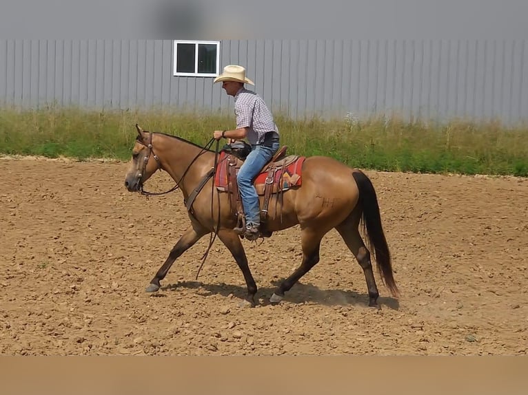
POLYGON ((258 195, 253 181, 278 150, 278 128, 264 100, 255 92, 245 89, 245 83, 255 84, 245 76, 244 67, 239 65, 225 66, 223 74, 214 79, 214 83, 217 82, 222 82, 222 87, 227 95, 234 96, 236 129, 216 130, 213 133, 214 138, 216 140, 220 138, 229 138, 230 140, 247 138, 252 147, 252 151, 236 176, 245 213, 246 228, 235 228, 235 231, 245 235, 247 239, 253 240, 260 235, 259 226, 261 224, 258 195))

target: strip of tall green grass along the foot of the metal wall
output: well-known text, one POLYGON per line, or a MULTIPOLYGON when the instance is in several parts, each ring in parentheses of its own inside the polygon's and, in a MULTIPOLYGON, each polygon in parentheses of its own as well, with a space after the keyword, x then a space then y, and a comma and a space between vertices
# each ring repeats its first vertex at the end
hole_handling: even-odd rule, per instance
MULTIPOLYGON (((234 116, 175 109, 0 109, 0 153, 128 160, 136 122, 205 145, 215 129, 233 128, 234 116)), ((291 120, 281 115, 276 123, 290 153, 332 156, 363 169, 528 176, 526 125, 505 128, 498 122, 461 120, 428 124, 396 117, 291 120)))

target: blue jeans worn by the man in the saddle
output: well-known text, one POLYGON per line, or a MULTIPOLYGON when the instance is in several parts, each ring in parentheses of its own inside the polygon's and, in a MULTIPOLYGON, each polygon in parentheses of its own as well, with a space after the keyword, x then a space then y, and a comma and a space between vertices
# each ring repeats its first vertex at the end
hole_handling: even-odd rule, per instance
POLYGON ((273 158, 279 145, 279 142, 272 142, 271 147, 252 145, 252 151, 238 171, 236 184, 238 184, 238 190, 242 198, 246 226, 259 226, 261 224, 261 209, 253 181, 267 161, 273 158))

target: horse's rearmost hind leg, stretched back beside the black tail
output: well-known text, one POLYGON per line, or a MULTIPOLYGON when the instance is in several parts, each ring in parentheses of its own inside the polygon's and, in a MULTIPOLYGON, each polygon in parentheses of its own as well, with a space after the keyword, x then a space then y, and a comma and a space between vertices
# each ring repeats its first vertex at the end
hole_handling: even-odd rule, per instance
POLYGON ((369 291, 369 306, 378 308, 379 293, 370 261, 370 251, 365 246, 365 243, 363 243, 363 239, 359 234, 358 224, 359 219, 354 219, 351 216, 336 226, 336 230, 343 237, 347 247, 352 251, 354 257, 356 257, 361 268, 363 268, 363 273, 365 273, 365 279, 367 280, 367 289, 369 291))

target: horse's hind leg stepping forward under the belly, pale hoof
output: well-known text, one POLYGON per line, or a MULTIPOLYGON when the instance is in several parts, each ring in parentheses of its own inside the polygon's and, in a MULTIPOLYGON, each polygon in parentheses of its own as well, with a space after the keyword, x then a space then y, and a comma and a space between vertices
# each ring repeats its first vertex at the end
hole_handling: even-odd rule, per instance
POLYGON ((278 286, 270 298, 271 303, 279 303, 284 297, 284 292, 289 291, 303 275, 308 273, 317 264, 322 238, 323 235, 320 232, 314 231, 312 228, 305 228, 301 231, 301 246, 303 248, 303 261, 301 262, 301 266, 278 286))

